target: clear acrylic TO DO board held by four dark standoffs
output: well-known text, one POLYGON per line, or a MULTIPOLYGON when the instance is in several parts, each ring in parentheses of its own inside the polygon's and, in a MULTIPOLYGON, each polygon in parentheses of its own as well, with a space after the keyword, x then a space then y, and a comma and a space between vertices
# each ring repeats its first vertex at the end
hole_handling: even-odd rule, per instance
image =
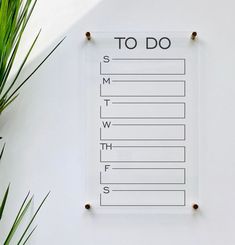
POLYGON ((91 32, 84 41, 86 201, 175 213, 198 201, 198 43, 190 33, 91 32))

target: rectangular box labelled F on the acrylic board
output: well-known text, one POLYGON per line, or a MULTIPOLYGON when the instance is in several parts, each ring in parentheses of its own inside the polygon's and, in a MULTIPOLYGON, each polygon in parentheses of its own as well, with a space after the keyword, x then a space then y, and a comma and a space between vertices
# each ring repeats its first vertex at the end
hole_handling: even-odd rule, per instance
MULTIPOLYGON (((109 167, 109 166, 108 166, 109 167)), ((185 168, 112 168, 100 172, 100 184, 185 184, 185 168)))

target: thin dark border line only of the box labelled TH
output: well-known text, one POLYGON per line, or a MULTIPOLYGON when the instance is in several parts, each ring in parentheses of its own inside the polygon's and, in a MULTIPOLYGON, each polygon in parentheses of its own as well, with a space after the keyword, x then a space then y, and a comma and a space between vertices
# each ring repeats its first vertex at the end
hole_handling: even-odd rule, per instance
POLYGON ((102 160, 102 150, 100 149, 100 162, 101 163, 139 163, 139 162, 143 162, 143 163, 185 163, 186 162, 186 146, 112 146, 113 148, 115 147, 159 147, 159 148, 183 148, 184 149, 184 160, 183 161, 108 161, 108 160, 102 160))

